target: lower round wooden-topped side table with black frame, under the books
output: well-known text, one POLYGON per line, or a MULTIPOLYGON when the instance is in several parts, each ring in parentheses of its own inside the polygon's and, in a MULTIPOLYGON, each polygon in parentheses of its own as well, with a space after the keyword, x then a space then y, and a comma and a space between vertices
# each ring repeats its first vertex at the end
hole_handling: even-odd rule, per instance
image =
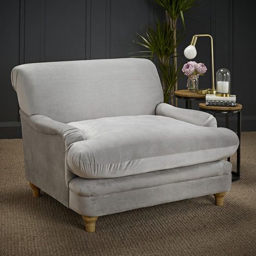
MULTIPOLYGON (((239 138, 239 146, 237 150, 237 172, 232 172, 232 181, 236 181, 240 179, 240 166, 241 166, 241 152, 240 152, 240 141, 241 141, 241 111, 242 111, 242 104, 238 104, 236 106, 207 106, 205 103, 199 103, 200 110, 206 112, 213 112, 213 113, 221 113, 225 114, 226 117, 226 128, 229 127, 229 113, 237 113, 237 132, 239 138)), ((230 157, 228 158, 230 162, 230 157)))

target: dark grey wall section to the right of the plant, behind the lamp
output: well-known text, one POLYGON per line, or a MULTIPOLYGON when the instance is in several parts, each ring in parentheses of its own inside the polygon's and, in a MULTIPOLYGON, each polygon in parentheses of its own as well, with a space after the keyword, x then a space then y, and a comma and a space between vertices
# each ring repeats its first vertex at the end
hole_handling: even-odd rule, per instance
MULTIPOLYGON (((211 34, 214 37, 215 72, 227 68, 231 73, 231 93, 237 95, 237 102, 243 104, 242 131, 256 131, 256 87, 254 86, 254 61, 256 53, 256 1, 253 0, 203 0, 185 14, 187 36, 182 41, 180 53, 189 44, 193 34, 211 34)), ((199 87, 208 88, 210 80, 210 41, 197 41, 198 62, 204 62, 207 74, 200 77, 199 87)), ((187 60, 181 58, 184 63, 187 60)), ((185 88, 185 77, 179 80, 180 89, 185 88)), ((179 106, 184 102, 179 100, 179 106)), ((198 102, 193 103, 198 109, 198 102)), ((230 118, 231 129, 236 131, 237 116, 230 118)), ((224 126, 223 115, 217 116, 224 126)))

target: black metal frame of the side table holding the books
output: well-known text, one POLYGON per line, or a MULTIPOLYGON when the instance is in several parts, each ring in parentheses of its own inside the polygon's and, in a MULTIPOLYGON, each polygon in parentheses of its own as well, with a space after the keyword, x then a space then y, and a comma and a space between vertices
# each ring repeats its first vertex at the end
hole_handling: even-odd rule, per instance
MULTIPOLYGON (((237 113, 237 133, 239 138, 239 146, 237 149, 237 172, 232 172, 232 181, 240 180, 240 168, 241 168, 241 150, 240 150, 240 143, 241 143, 241 110, 229 110, 229 111, 221 111, 221 110, 206 110, 200 109, 204 112, 213 112, 213 113, 220 113, 225 114, 225 121, 226 121, 226 128, 229 129, 229 114, 230 113, 237 113)), ((230 157, 227 159, 230 162, 230 157)))

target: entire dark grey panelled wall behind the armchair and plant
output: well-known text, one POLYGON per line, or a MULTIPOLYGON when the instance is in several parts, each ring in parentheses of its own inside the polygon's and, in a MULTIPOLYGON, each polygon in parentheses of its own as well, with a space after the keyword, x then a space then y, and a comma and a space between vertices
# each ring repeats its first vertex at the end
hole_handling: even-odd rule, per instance
MULTIPOLYGON (((198 2, 185 13, 187 36, 179 49, 182 53, 193 34, 214 36, 215 69, 225 67, 231 72, 231 91, 244 106, 243 131, 256 131, 255 75, 249 70, 255 59, 251 50, 256 43, 255 7, 252 0, 198 2)), ((143 33, 158 18, 164 18, 164 12, 153 0, 2 0, 0 138, 21 136, 17 98, 10 82, 13 67, 29 62, 128 57, 140 50, 133 42, 138 39, 136 33, 143 33)), ((200 78, 200 87, 209 87, 208 38, 200 38, 197 49, 196 61, 204 62, 209 70, 200 78)), ((184 89, 185 83, 181 76, 179 88, 184 89)), ((182 100, 179 106, 184 106, 182 100)))

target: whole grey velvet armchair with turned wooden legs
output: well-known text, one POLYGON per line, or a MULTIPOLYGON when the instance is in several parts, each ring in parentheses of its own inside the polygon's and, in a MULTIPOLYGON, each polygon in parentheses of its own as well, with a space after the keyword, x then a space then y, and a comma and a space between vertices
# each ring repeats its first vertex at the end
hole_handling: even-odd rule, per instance
POLYGON ((80 214, 99 216, 214 194, 223 204, 239 140, 203 112, 162 103, 154 64, 124 58, 31 63, 12 84, 26 178, 80 214))

